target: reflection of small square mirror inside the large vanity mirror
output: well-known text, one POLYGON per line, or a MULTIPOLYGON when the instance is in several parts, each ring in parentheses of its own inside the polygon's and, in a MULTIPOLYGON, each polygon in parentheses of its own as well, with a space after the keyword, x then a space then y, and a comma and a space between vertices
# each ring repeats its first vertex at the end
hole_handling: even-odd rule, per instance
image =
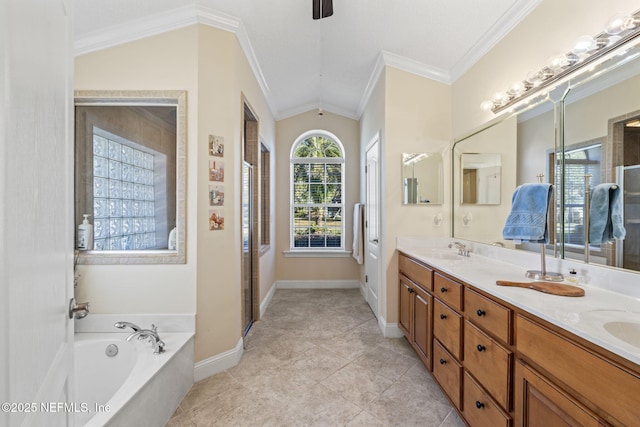
POLYGON ((462 153, 463 205, 499 205, 501 156, 498 153, 462 153))

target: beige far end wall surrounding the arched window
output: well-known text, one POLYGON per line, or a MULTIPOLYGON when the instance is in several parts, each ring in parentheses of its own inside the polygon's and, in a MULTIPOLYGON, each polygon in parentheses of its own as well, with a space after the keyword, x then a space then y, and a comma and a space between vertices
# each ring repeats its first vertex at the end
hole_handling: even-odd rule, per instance
POLYGON ((324 130, 334 134, 345 150, 345 181, 343 189, 346 212, 345 249, 353 242, 353 205, 360 201, 360 132, 358 122, 325 111, 320 118, 311 110, 277 122, 276 135, 276 276, 278 280, 360 280, 360 266, 351 257, 287 258, 284 251, 290 245, 289 213, 289 155, 300 135, 310 130, 324 130))

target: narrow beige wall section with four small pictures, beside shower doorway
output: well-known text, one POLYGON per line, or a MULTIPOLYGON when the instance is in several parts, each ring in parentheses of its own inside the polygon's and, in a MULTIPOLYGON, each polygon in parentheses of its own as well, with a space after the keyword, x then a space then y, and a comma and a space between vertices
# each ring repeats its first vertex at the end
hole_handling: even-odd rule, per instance
MULTIPOLYGON (((259 120, 266 145, 274 141, 274 120, 235 36, 199 27, 198 301, 196 361, 233 348, 242 334, 241 209, 243 94, 259 120), (209 231, 208 135, 225 138, 225 229, 209 231)), ((271 256, 271 251, 263 258, 271 256)), ((261 298, 274 283, 268 263, 261 268, 261 298)))

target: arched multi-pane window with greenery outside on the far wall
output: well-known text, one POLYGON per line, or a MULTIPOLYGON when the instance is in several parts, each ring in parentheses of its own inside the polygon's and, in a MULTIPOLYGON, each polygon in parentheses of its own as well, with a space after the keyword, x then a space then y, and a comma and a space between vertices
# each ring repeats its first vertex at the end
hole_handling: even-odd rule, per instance
POLYGON ((291 249, 344 250, 344 150, 324 131, 291 149, 291 249))

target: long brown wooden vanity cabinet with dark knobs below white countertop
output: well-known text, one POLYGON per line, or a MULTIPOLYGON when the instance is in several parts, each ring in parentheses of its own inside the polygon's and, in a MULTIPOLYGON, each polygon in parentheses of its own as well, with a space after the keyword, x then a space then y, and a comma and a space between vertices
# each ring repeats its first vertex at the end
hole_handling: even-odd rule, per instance
POLYGON ((640 366, 414 259, 400 266, 400 328, 468 425, 640 425, 640 366))

